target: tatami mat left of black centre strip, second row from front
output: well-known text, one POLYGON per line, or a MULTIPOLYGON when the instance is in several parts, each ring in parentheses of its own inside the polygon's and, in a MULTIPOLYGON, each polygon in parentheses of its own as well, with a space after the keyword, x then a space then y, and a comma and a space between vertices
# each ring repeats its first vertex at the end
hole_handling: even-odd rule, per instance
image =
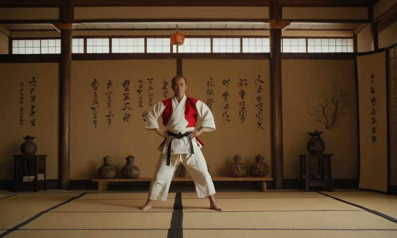
POLYGON ((168 229, 172 212, 46 213, 22 229, 168 229))

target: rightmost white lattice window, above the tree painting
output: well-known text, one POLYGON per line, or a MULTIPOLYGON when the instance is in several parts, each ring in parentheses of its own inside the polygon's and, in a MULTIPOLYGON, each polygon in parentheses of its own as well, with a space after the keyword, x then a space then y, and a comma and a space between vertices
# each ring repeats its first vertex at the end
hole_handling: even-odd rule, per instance
POLYGON ((354 52, 353 39, 307 39, 309 53, 354 52))

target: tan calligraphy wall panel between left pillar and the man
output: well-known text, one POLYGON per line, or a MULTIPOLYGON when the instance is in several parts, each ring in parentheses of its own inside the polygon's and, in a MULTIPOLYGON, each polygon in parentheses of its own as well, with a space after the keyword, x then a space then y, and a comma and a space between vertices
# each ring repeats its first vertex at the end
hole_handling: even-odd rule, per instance
POLYGON ((166 97, 172 96, 175 75, 176 60, 73 61, 71 179, 97 177, 106 155, 113 158, 118 176, 125 157, 132 155, 141 177, 152 177, 163 138, 144 129, 144 112, 165 98, 164 80, 166 97))

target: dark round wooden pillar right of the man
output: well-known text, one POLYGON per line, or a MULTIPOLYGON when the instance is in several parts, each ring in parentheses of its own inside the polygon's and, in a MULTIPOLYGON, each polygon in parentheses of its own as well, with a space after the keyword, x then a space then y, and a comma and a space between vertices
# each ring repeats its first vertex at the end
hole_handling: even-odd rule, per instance
POLYGON ((281 4, 270 2, 270 127, 272 177, 275 189, 283 188, 283 103, 281 87, 281 33, 289 25, 282 20, 281 4))

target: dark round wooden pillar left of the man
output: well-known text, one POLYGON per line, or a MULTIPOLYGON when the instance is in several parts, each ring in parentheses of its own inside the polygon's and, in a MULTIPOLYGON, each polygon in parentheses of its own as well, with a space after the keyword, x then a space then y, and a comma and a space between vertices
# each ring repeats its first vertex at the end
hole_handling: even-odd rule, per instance
POLYGON ((70 189, 70 91, 72 59, 72 23, 73 6, 71 0, 64 0, 61 5, 61 21, 56 25, 61 32, 60 61, 60 114, 59 114, 59 178, 60 188, 70 189))

